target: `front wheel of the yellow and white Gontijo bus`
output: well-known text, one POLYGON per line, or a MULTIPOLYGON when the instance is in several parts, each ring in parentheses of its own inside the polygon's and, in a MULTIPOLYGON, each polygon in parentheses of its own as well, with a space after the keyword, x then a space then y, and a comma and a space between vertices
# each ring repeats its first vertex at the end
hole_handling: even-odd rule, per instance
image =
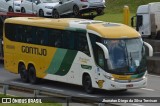
POLYGON ((92 81, 91 81, 91 77, 89 75, 84 76, 83 87, 87 93, 93 92, 92 81))

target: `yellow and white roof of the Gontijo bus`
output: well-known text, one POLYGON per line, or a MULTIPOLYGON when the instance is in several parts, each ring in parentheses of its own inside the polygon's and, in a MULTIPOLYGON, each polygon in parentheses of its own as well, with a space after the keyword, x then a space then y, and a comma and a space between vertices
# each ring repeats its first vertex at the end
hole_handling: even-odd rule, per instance
POLYGON ((78 18, 51 19, 41 17, 14 17, 6 19, 5 23, 57 29, 87 29, 99 33, 101 37, 113 39, 140 37, 140 34, 135 29, 127 25, 78 18))

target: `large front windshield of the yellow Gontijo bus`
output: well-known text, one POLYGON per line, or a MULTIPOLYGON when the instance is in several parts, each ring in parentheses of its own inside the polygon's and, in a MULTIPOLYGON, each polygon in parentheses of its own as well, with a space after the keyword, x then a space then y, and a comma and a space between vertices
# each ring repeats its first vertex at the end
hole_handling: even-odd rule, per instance
POLYGON ((140 38, 102 41, 109 51, 111 73, 134 74, 146 70, 145 48, 140 38))

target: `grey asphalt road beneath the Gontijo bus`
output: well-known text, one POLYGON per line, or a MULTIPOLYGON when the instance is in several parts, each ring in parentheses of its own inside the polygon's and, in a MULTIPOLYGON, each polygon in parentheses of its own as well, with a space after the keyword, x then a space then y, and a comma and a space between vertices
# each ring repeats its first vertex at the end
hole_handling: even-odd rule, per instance
MULTIPOLYGON (((80 86, 59 83, 55 81, 42 80, 40 84, 31 85, 29 83, 22 83, 19 75, 7 72, 0 64, 0 81, 7 81, 12 84, 19 84, 22 86, 41 87, 55 92, 61 92, 69 95, 76 95, 78 97, 160 97, 160 77, 155 75, 148 75, 147 88, 130 89, 127 92, 109 92, 96 90, 94 94, 86 94, 80 86)), ((16 94, 15 94, 16 95, 16 94)), ((118 103, 115 103, 118 104, 118 103)), ((121 103, 122 106, 160 106, 160 103, 121 103)))

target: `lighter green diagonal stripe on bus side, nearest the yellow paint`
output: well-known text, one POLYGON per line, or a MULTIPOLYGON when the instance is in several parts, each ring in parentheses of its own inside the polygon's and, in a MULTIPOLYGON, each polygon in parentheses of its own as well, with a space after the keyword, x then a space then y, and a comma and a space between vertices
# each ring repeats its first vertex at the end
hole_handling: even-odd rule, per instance
POLYGON ((61 63, 67 53, 67 49, 57 49, 52 62, 46 71, 49 74, 55 74, 57 71, 59 71, 59 68, 61 66, 61 63))

